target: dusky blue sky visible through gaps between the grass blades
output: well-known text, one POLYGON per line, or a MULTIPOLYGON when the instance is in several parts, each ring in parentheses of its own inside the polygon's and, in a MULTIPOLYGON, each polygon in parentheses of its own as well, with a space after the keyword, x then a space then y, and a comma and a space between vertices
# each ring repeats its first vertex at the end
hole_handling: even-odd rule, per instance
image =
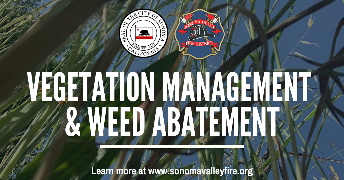
MULTIPOLYGON (((305 10, 306 8, 310 7, 311 5, 313 5, 315 3, 314 1, 318 2, 318 0, 297 0, 295 3, 294 9, 291 13, 291 16, 293 16, 293 15, 305 10)), ((216 4, 221 4, 221 3, 225 3, 225 1, 219 1, 218 0, 214 3, 213 6, 215 6, 216 4)), ((236 0, 234 0, 234 3, 236 3, 236 0)), ((271 1, 270 8, 272 7, 273 3, 275 3, 275 1, 271 1)), ((275 10, 272 12, 271 17, 275 16, 276 13, 283 7, 283 5, 285 3, 286 3, 286 1, 280 0, 276 5, 275 10)), ((189 8, 191 7, 191 4, 192 4, 192 2, 190 3, 189 8)), ((249 3, 247 3, 247 4, 249 4, 249 3)), ((167 7, 165 7, 164 9, 160 10, 159 13, 161 12, 162 16, 164 17, 172 9, 175 8, 175 5, 176 5, 175 3, 170 4, 167 7)), ((261 22, 264 20, 264 7, 265 7, 265 1, 257 0, 256 5, 255 5, 256 14, 257 14, 258 19, 261 22)), ((247 6, 247 8, 250 8, 250 7, 247 6)), ((298 52, 298 53, 300 53, 300 54, 302 54, 308 58, 312 58, 313 61, 316 61, 319 63, 326 62, 329 59, 329 54, 330 54, 330 50, 331 50, 331 46, 332 46, 332 39, 333 39, 336 25, 339 22, 339 20, 344 16, 343 8, 344 8, 344 3, 341 0, 336 0, 335 2, 331 3, 330 5, 327 5, 323 9, 321 9, 320 11, 314 12, 312 14, 312 19, 314 19, 314 23, 313 23, 311 28, 308 28, 308 20, 309 20, 310 16, 307 16, 307 17, 303 18, 302 20, 298 21, 297 23, 286 28, 284 30, 280 40, 278 41, 278 44, 277 44, 281 61, 282 61, 282 63, 285 61, 283 68, 301 68, 301 69, 315 68, 314 65, 305 63, 304 61, 302 61, 298 58, 295 58, 295 57, 289 57, 287 59, 288 55, 293 51, 294 48, 295 48, 294 52, 298 52), (306 34, 306 32, 307 32, 307 34, 306 34), (303 43, 298 44, 298 42, 300 41, 301 38, 303 41, 308 41, 310 43, 317 43, 317 45, 320 46, 321 48, 317 47, 315 45, 311 45, 311 44, 303 44, 303 43)), ((218 16, 221 17, 221 19, 224 19, 226 17, 224 9, 217 12, 217 13, 218 13, 218 16)), ((278 23, 287 19, 288 13, 289 13, 289 10, 283 15, 283 17, 281 18, 281 20, 278 23)), ((233 17, 230 18, 230 22, 232 21, 232 18, 233 17)), ((166 21, 167 25, 169 27, 171 27, 174 19, 173 19, 173 17, 168 17, 165 19, 165 21, 166 21)), ((224 28, 226 31, 226 27, 224 27, 224 28)), ((173 33, 174 29, 171 29, 171 30, 172 30, 172 32, 170 31, 170 33, 173 33)), ((343 33, 341 33, 337 38, 335 52, 344 45, 344 41, 342 41, 343 38, 344 38, 344 35, 343 35, 343 33)), ((226 39, 227 39, 227 36, 225 37, 225 41, 226 41, 226 39)), ((234 35, 232 38, 232 43, 235 43, 238 45, 245 45, 248 40, 249 40, 249 34, 248 34, 247 29, 246 29, 245 22, 244 22, 243 18, 241 17, 240 22, 238 23, 236 30, 234 32, 234 35)), ((270 59, 271 52, 272 52, 271 40, 269 40, 268 43, 269 43, 268 47, 269 47, 269 59, 270 59)), ((214 71, 216 71, 215 67, 221 66, 224 47, 225 46, 222 45, 222 48, 221 48, 222 51, 219 52, 217 56, 211 56, 211 57, 207 58, 208 71, 214 72, 214 71)), ((232 46, 232 54, 234 54, 238 49, 239 49, 239 47, 232 46)), ((150 58, 147 58, 147 59, 136 58, 135 60, 136 61, 133 62, 131 68, 129 69, 129 72, 137 72, 137 70, 141 71, 142 69, 146 68, 148 65, 148 62, 145 62, 145 61, 150 60, 150 58), (145 61, 140 61, 140 60, 145 60, 145 61)), ((156 60, 157 60, 157 57, 154 57, 153 61, 156 61, 156 60)), ((248 59, 247 62, 249 62, 249 63, 246 64, 245 70, 247 70, 248 66, 251 63, 251 60, 248 59)), ((118 70, 122 70, 124 64, 125 63, 123 63, 123 65, 118 67, 118 70)), ((270 63, 268 64, 268 67, 270 67, 270 63)), ((195 68, 194 65, 193 65, 193 68, 195 68)), ((275 65, 275 68, 277 68, 276 65, 275 65)), ((236 70, 236 72, 237 71, 238 71, 238 69, 236 70)), ((194 70, 193 70, 193 72, 195 73, 194 70)), ((301 84, 299 83, 298 85, 300 86, 301 84)), ((318 82, 315 81, 314 78, 309 79, 308 85, 310 87, 316 87, 316 88, 319 87, 318 82)), ((339 92, 339 89, 335 88, 335 91, 339 92)), ((318 92, 318 89, 313 89, 313 92, 314 93, 318 92)), ((310 90, 308 91, 308 98, 309 99, 314 96, 313 92, 310 90)), ((335 94, 337 94, 337 93, 335 93, 335 94)), ((299 101, 290 102, 290 104, 291 104, 290 107, 293 107, 293 106, 300 104, 300 103, 307 103, 307 102, 301 101, 301 99, 302 99, 301 96, 302 96, 302 94, 299 93, 299 96, 298 96, 299 101)), ((336 101, 335 106, 342 109, 342 107, 343 107, 342 102, 343 102, 343 97, 340 97, 336 101)), ((272 102, 272 104, 275 107, 280 107, 279 102, 272 102)), ((168 104, 168 105, 170 105, 170 104, 168 104)), ((185 106, 186 102, 181 102, 181 105, 182 105, 182 107, 185 106)), ((301 105, 298 109, 302 109, 304 106, 305 105, 301 105)), ((310 108, 310 109, 312 109, 312 108, 310 108)), ((307 112, 310 113, 310 111, 307 111, 307 112)), ((307 114, 307 113, 305 113, 305 114, 307 114)), ((303 117, 303 116, 300 117, 296 121, 296 124, 299 124, 304 118, 305 117, 303 117)), ((285 117, 284 117, 284 119, 285 119, 285 117)), ((300 129, 300 131, 304 137, 307 137, 307 135, 308 135, 310 124, 311 124, 311 120, 307 121, 302 126, 302 128, 300 129)), ((318 122, 318 125, 315 128, 316 132, 318 131, 319 126, 320 126, 320 122, 318 122)), ((319 137, 318 143, 317 143, 319 145, 319 147, 321 148, 322 152, 324 153, 324 155, 318 149, 315 149, 314 150, 315 156, 327 158, 327 157, 335 154, 337 151, 341 151, 342 149, 344 149, 343 132, 344 132, 343 128, 332 117, 328 117, 324 126, 323 126, 322 132, 320 134, 320 137, 319 137), (330 142, 335 145, 337 151, 331 146, 330 142)), ((313 138, 312 138, 311 142, 314 140, 315 133, 313 134, 313 138)), ((107 134, 107 131, 105 131, 105 135, 106 134, 107 134)), ((107 138, 108 138, 107 136, 103 136, 103 137, 101 137, 101 141, 104 142, 104 140, 106 140, 107 138)), ((257 136, 256 139, 259 141, 260 138, 261 138, 261 136, 257 136)), ((298 135, 297 135, 297 138, 298 138, 298 135)), ((252 145, 254 146, 254 148, 256 148, 257 145, 259 144, 258 141, 251 142, 252 145)), ((133 143, 135 144, 135 141, 133 141, 133 143)), ((234 144, 233 137, 228 137, 226 140, 226 144, 227 143, 228 144, 234 144)), ((299 138, 297 139, 297 144, 300 147, 304 147, 299 138)), ((298 150, 300 153, 302 153, 302 150, 300 147, 298 150)), ((287 146, 287 148, 288 148, 288 151, 290 151, 290 152, 292 151, 290 145, 287 146)), ((263 149, 263 150, 265 150, 265 149, 263 149)), ((344 152, 341 154, 344 155, 344 152)), ((239 159, 240 158, 242 158, 242 157, 239 157, 239 159)), ((334 155, 330 159, 344 160, 344 158, 339 154, 334 155)), ((190 155, 190 156, 184 155, 182 162, 183 162, 183 165, 187 165, 187 164, 190 164, 196 160, 198 161, 197 155, 190 155)), ((336 163, 334 161, 325 161, 324 163, 321 163, 321 166, 322 166, 323 170, 325 171, 327 178, 330 179, 330 176, 329 176, 331 173, 330 164, 336 169, 339 177, 341 177, 343 179, 344 172, 342 171, 342 169, 344 168, 344 165, 336 163)), ((314 163, 311 162, 310 167, 313 167, 313 166, 314 166, 314 163)), ((114 167, 114 165, 112 165, 112 167, 114 167)), ((271 175, 272 175, 272 172, 271 172, 271 175)), ((320 180, 321 175, 320 175, 320 173, 316 167, 313 168, 310 172, 308 172, 307 179, 313 179, 313 176, 318 178, 318 180, 320 180)), ((102 178, 102 180, 108 180, 109 178, 110 178, 109 176, 104 176, 102 178)), ((291 173, 289 174, 289 178, 292 179, 291 173)), ((228 177, 228 179, 231 179, 231 177, 228 177)), ((269 179, 272 179, 272 176, 269 176, 269 179)))

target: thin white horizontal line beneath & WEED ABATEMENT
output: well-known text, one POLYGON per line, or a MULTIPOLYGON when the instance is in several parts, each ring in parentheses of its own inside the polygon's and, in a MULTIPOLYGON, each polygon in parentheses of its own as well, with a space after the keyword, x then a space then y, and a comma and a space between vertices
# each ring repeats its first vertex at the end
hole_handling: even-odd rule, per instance
POLYGON ((234 149, 244 148, 244 145, 100 145, 100 148, 113 149, 204 149, 204 148, 222 148, 234 149))

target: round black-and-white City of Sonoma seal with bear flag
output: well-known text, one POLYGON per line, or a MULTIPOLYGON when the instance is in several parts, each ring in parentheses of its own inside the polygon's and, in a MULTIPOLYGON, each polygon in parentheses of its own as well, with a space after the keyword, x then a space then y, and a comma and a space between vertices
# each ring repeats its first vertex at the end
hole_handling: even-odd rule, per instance
POLYGON ((160 14, 138 9, 128 14, 120 25, 122 46, 133 56, 148 58, 166 45, 168 27, 160 14))

